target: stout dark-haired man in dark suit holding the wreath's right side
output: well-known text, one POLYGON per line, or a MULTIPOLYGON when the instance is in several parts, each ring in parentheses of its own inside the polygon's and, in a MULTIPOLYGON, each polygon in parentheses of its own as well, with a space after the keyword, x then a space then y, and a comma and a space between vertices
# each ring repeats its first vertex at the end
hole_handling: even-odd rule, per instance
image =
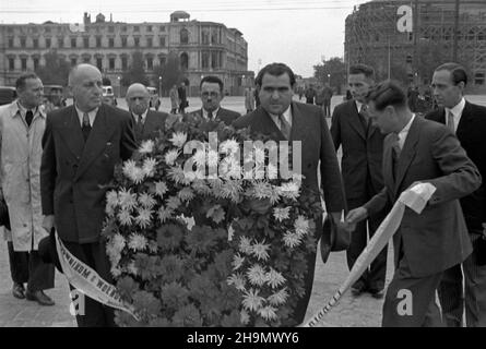
MULTIPOLYGON (((294 72, 283 63, 264 67, 256 80, 261 105, 235 121, 235 128, 249 128, 252 133, 262 133, 274 141, 301 142, 303 186, 319 193, 324 192, 325 207, 336 222, 345 208, 341 173, 331 135, 322 109, 311 105, 293 103, 294 72), (319 164, 320 163, 320 164, 319 164), (321 181, 318 181, 318 169, 321 181), (320 185, 319 185, 320 184, 320 185)), ((322 232, 322 217, 316 220, 316 241, 322 232)), ((305 278, 305 296, 299 299, 293 314, 295 323, 304 321, 312 290, 316 250, 307 255, 308 270, 305 278)))

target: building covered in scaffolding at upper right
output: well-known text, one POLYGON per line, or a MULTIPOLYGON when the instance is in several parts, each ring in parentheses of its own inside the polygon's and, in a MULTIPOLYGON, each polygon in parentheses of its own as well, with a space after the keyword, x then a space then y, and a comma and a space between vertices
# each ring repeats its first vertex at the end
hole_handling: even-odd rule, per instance
POLYGON ((428 85, 430 67, 454 58, 470 73, 470 89, 485 93, 485 0, 374 0, 346 17, 345 62, 370 64, 380 80, 428 85), (401 5, 414 12, 412 33, 398 31, 401 5))

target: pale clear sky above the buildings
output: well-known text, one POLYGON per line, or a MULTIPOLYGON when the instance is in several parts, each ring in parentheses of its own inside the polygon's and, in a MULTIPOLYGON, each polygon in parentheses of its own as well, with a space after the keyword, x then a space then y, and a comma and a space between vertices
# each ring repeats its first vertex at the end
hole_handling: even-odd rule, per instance
POLYGON ((238 28, 248 41, 248 69, 284 62, 305 77, 313 65, 344 56, 344 21, 366 0, 0 0, 0 23, 80 23, 102 12, 114 22, 169 22, 174 11, 190 20, 238 28))

